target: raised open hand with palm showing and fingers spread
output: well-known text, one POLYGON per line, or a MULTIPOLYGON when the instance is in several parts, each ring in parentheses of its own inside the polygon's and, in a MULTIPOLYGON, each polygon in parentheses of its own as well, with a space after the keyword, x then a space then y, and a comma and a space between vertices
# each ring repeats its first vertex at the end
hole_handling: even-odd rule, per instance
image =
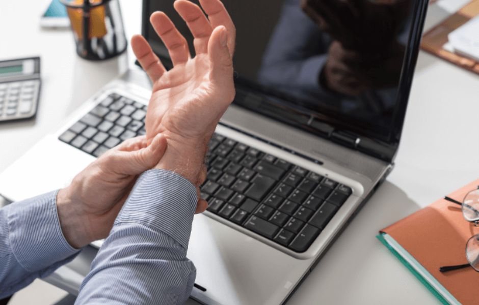
POLYGON ((196 187, 201 181, 207 142, 235 94, 233 22, 220 0, 200 0, 200 4, 208 18, 190 1, 174 3, 195 38, 194 58, 168 16, 163 12, 151 15, 153 28, 169 50, 174 65, 170 71, 142 36, 131 40, 138 61, 153 81, 146 115, 147 138, 161 133, 168 141, 165 157, 156 168, 177 172, 196 187))

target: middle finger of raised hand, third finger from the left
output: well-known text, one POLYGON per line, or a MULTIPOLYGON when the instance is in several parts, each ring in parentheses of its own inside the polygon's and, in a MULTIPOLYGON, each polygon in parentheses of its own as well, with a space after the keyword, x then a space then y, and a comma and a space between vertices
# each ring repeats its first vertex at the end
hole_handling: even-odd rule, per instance
POLYGON ((195 38, 196 54, 206 53, 208 50, 208 40, 213 32, 213 28, 209 23, 203 11, 196 4, 187 0, 177 0, 174 7, 178 14, 187 23, 191 34, 195 38))

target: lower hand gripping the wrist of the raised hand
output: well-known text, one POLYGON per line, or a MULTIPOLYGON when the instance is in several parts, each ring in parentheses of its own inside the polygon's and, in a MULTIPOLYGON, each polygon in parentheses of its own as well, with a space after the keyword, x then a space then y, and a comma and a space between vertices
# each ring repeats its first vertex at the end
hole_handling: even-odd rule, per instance
MULTIPOLYGON (((108 236, 138 175, 158 164, 166 145, 162 135, 156 136, 148 146, 144 136, 126 140, 58 192, 60 225, 72 247, 81 248, 108 236)), ((205 208, 204 203, 199 204, 197 212, 205 208)))

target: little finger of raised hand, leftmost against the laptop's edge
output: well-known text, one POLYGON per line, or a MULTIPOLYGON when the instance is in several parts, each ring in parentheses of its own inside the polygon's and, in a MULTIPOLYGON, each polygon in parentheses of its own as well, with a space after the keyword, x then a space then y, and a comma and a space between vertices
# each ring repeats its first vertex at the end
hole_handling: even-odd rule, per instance
POLYGON ((148 74, 152 82, 155 82, 162 77, 166 69, 143 36, 133 36, 133 38, 131 38, 131 48, 133 49, 138 62, 143 70, 145 70, 146 74, 148 74))

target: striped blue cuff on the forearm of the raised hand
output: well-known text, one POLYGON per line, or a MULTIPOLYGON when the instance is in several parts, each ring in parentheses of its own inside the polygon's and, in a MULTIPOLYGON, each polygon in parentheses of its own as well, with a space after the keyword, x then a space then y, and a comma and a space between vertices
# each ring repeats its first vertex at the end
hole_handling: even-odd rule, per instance
POLYGON ((137 180, 115 221, 155 228, 188 249, 198 203, 196 188, 182 176, 167 170, 144 172, 137 180))

